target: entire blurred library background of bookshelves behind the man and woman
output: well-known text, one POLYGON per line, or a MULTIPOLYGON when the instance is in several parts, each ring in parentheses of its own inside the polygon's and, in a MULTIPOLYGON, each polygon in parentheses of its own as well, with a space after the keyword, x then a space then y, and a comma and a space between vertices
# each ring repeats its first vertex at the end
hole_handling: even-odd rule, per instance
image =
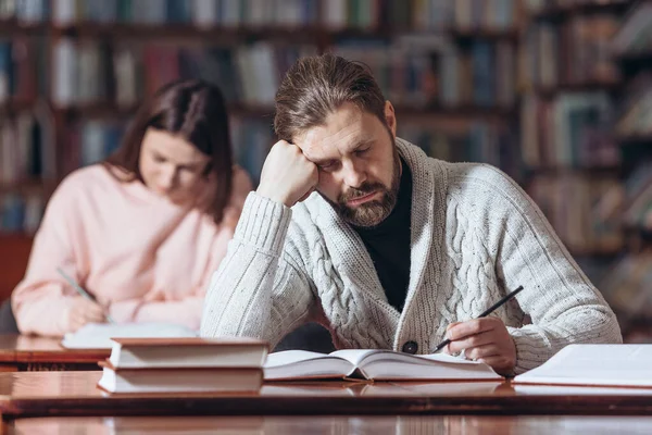
POLYGON ((0 0, 0 301, 58 183, 114 150, 143 97, 217 84, 255 183, 283 74, 325 51, 372 67, 401 137, 514 177, 626 341, 652 343, 647 0, 0 0))

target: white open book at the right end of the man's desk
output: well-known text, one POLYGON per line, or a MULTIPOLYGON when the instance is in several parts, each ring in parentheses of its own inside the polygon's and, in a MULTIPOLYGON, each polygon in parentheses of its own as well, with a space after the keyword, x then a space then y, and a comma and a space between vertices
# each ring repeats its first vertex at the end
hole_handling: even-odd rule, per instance
POLYGON ((568 345, 514 384, 652 387, 652 345, 568 345))

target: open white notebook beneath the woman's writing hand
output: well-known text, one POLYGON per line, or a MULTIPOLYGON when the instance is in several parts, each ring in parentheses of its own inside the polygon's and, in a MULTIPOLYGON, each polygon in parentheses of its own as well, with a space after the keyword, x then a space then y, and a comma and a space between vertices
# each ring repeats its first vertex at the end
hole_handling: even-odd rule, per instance
POLYGON ((116 338, 197 337, 196 331, 170 323, 88 323, 77 332, 66 334, 61 345, 67 349, 111 349, 116 338))

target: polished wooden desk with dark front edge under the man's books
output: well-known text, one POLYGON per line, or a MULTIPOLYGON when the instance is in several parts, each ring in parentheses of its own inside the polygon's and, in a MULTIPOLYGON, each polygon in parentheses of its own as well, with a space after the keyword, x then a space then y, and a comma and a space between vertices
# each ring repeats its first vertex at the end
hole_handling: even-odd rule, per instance
POLYGON ((255 394, 108 395, 99 372, 0 373, 4 420, 127 415, 652 415, 652 389, 507 382, 265 384, 255 394))

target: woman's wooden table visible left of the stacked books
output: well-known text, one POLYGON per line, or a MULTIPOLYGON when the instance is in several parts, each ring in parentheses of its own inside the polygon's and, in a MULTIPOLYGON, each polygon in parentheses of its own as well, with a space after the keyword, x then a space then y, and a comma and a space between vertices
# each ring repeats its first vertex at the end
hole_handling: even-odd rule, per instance
POLYGON ((0 335, 0 372, 100 370, 110 350, 65 349, 60 338, 0 335))

